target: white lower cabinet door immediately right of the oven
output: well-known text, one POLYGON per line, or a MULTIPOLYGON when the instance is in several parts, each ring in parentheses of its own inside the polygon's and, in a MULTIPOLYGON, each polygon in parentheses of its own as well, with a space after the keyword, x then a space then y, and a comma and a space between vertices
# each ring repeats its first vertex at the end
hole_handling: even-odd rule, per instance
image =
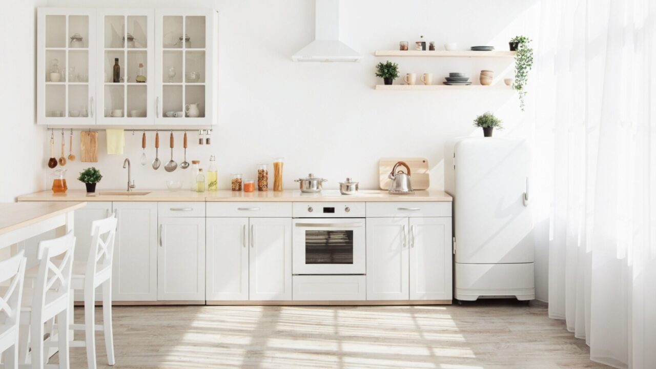
POLYGON ((408 299, 408 218, 367 218, 367 300, 408 299))

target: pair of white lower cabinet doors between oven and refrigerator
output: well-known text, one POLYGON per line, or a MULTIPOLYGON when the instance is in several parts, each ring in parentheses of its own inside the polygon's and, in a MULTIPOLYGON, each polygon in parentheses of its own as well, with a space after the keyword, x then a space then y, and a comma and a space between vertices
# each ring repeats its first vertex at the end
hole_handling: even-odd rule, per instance
POLYGON ((367 218, 367 300, 451 300, 450 217, 367 218))

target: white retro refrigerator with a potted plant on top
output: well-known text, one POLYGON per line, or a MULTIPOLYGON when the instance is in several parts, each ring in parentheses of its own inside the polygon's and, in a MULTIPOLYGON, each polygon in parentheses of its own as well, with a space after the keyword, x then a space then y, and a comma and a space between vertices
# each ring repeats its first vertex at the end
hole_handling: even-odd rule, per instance
POLYGON ((523 140, 447 141, 444 186, 453 196, 456 299, 535 299, 529 163, 523 140))

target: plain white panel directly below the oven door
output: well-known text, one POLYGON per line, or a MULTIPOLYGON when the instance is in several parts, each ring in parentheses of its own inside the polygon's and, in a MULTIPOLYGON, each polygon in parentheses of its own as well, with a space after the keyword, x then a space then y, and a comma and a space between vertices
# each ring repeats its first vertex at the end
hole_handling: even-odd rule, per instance
POLYGON ((366 276, 293 276, 296 301, 362 301, 367 299, 366 276))

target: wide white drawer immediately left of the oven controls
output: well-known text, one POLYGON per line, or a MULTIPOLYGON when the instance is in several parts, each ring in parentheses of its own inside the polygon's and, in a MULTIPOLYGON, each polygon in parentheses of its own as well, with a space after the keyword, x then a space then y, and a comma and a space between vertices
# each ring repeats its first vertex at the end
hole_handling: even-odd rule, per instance
POLYGON ((207 216, 291 218, 291 202, 211 202, 207 216))

